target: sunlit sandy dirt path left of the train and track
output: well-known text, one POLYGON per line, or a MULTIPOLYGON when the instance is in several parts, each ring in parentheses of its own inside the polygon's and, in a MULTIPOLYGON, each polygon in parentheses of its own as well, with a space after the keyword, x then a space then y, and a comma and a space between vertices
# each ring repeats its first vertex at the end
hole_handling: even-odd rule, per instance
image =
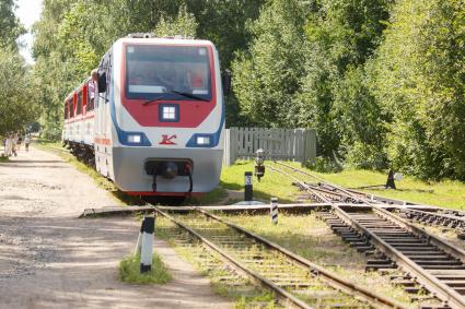
POLYGON ((85 207, 115 204, 57 155, 32 148, 0 163, 0 308, 232 307, 160 240, 173 282, 118 282, 117 263, 133 249, 139 224, 77 218, 85 207))

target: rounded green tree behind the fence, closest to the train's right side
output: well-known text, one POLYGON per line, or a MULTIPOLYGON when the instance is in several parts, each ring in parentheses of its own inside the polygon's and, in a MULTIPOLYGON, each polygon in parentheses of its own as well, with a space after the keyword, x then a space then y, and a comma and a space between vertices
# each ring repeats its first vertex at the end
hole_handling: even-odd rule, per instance
POLYGON ((303 73, 304 16, 299 1, 270 1, 251 26, 248 51, 240 52, 232 64, 241 112, 255 124, 289 127, 294 120, 292 98, 303 73))

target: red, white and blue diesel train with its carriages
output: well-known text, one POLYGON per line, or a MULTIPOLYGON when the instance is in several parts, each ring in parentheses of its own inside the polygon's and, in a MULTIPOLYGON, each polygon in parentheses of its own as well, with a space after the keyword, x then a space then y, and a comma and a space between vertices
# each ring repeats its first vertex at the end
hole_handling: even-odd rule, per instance
POLYGON ((224 80, 211 41, 129 35, 94 73, 65 99, 62 140, 73 153, 131 195, 218 186, 224 80))

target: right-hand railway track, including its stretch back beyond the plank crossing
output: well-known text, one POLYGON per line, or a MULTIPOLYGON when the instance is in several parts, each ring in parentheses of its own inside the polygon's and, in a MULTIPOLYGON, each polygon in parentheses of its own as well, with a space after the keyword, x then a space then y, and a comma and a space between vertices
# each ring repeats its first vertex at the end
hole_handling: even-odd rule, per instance
MULTIPOLYGON (((442 301, 440 306, 427 304, 425 308, 465 308, 464 250, 386 211, 363 193, 333 185, 309 185, 287 171, 272 169, 293 179, 313 199, 332 205, 329 213, 318 215, 352 247, 375 258, 369 261, 369 268, 400 268, 405 275, 395 277, 396 284, 414 294, 429 292, 430 297, 442 301), (352 203, 344 205, 349 202, 352 203)), ((409 211, 406 209, 407 213, 409 211)), ((430 213, 422 212, 421 215, 427 214, 430 213)))

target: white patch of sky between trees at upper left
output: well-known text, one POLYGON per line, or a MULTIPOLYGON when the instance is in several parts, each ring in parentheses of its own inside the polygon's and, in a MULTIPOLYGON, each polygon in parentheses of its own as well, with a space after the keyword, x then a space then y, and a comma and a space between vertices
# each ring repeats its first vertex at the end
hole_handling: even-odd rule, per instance
POLYGON ((19 38, 19 41, 25 44, 25 46, 20 49, 20 52, 27 63, 34 63, 31 55, 33 45, 31 26, 40 17, 42 2, 43 0, 16 0, 18 9, 15 14, 27 29, 27 34, 19 38))

